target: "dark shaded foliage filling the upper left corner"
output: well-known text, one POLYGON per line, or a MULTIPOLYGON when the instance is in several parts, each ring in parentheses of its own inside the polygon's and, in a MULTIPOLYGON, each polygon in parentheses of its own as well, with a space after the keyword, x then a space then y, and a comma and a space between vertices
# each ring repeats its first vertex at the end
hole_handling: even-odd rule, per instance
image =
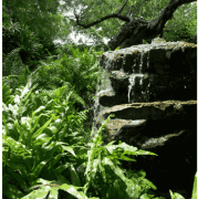
POLYGON ((51 0, 37 3, 3 1, 3 76, 13 74, 11 70, 20 71, 24 65, 33 71, 40 60, 45 60, 48 51, 56 53, 53 40, 61 32, 59 28, 63 28, 58 6, 59 2, 51 0))

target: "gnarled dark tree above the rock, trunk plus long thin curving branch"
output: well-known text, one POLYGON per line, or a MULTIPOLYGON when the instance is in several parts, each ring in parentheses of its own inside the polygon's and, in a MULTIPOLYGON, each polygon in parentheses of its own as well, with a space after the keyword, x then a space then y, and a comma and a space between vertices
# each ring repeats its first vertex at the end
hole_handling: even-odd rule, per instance
MULTIPOLYGON (((117 35, 115 35, 110 42, 108 45, 112 50, 115 50, 117 46, 121 49, 128 48, 132 45, 137 45, 143 43, 144 40, 152 40, 156 38, 157 35, 161 34, 163 29, 165 28, 166 22, 173 18, 174 12, 176 9, 185 3, 194 2, 195 0, 170 0, 168 4, 160 10, 157 18, 150 21, 146 21, 143 18, 133 19, 128 14, 127 15, 121 15, 119 13, 124 9, 125 4, 128 0, 126 0, 123 4, 123 7, 118 10, 117 13, 112 13, 108 15, 105 15, 101 18, 101 20, 94 21, 90 24, 82 24, 80 23, 80 17, 75 13, 74 15, 76 18, 76 23, 84 29, 87 29, 90 27, 93 27, 104 20, 111 19, 111 18, 117 18, 119 20, 126 21, 126 23, 121 28, 117 35)), ((140 6, 148 0, 144 0, 138 8, 134 11, 133 15, 136 14, 140 6)), ((132 12, 132 7, 129 12, 132 12)))

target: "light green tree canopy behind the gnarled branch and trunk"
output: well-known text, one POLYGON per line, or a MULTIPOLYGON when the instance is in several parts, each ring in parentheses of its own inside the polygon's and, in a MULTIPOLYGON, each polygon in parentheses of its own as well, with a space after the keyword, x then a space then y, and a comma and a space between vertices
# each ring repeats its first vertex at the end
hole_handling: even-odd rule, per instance
POLYGON ((74 30, 98 41, 101 38, 113 39, 128 19, 142 18, 147 22, 156 21, 167 6, 171 6, 166 11, 168 19, 164 20, 167 27, 176 30, 180 24, 183 27, 185 24, 192 35, 196 33, 197 2, 195 0, 67 0, 64 2, 62 9, 70 11, 70 15, 65 19, 74 30), (188 17, 184 18, 185 10, 188 10, 188 17))

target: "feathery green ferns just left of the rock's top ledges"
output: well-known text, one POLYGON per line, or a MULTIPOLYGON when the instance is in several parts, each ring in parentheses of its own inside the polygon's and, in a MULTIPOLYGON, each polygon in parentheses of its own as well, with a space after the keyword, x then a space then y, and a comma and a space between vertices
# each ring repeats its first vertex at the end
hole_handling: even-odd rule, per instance
POLYGON ((42 90, 55 90, 70 84, 77 95, 91 104, 93 102, 91 96, 95 92, 97 76, 101 74, 98 57, 102 52, 88 53, 87 50, 80 52, 79 49, 67 48, 66 53, 63 51, 58 60, 54 61, 54 56, 49 56, 46 61, 41 61, 41 65, 33 72, 33 82, 42 90))

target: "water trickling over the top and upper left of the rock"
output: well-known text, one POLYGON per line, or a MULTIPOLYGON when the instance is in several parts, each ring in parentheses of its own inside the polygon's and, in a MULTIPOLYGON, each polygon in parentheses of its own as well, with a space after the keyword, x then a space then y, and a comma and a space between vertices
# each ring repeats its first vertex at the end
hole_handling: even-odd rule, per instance
MULTIPOLYGON (((108 78, 111 71, 121 71, 127 73, 128 75, 128 93, 127 101, 128 103, 133 102, 148 102, 150 95, 150 87, 153 88, 154 77, 152 74, 146 76, 146 71, 149 70, 150 65, 150 50, 154 49, 164 49, 177 51, 178 49, 185 50, 184 42, 166 42, 161 40, 154 40, 152 44, 142 44, 134 45, 126 49, 121 49, 118 51, 105 52, 102 55, 101 65, 105 73, 102 75, 102 85, 97 85, 97 100, 94 105, 94 117, 98 116, 100 105, 98 98, 100 95, 106 92, 114 92, 108 78), (183 48, 184 46, 184 48, 183 48), (135 57, 133 53, 136 53, 135 57), (131 55, 134 59, 131 62, 131 55), (128 57, 129 56, 129 57, 128 57), (132 64, 131 64, 132 63, 132 64), (131 64, 131 65, 128 65, 131 64), (133 73, 133 74, 132 74, 133 73), (137 73, 137 74, 134 74, 137 73), (143 74, 144 73, 144 74, 143 74), (149 80, 145 80, 149 77, 149 80), (152 84, 152 85, 150 85, 152 84)), ((150 70, 149 70, 150 71, 150 70)), ((185 86, 186 87, 186 86, 185 86)))

